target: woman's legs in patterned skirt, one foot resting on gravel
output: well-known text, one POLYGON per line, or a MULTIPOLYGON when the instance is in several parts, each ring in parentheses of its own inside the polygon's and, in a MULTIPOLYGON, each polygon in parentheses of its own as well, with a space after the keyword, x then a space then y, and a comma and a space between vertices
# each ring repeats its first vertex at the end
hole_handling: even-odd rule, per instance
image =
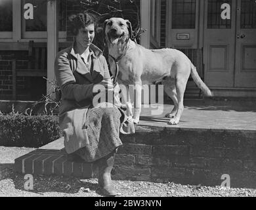
POLYGON ((92 108, 87 112, 89 145, 75 151, 86 162, 98 166, 98 184, 106 196, 116 196, 111 171, 116 150, 122 145, 119 138, 121 113, 118 108, 92 108))

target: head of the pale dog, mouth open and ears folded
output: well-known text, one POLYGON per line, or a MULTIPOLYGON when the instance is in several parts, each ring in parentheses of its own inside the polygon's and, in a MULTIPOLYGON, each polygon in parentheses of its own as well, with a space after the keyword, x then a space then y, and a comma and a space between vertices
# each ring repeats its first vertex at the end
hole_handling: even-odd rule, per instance
POLYGON ((104 22, 106 40, 112 44, 124 41, 132 36, 131 22, 123 18, 110 18, 104 22))

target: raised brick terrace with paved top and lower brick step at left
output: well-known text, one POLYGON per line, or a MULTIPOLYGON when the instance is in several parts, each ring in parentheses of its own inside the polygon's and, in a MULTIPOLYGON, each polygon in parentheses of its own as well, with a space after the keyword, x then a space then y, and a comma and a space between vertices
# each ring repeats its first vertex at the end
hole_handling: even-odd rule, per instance
MULTIPOLYGON (((164 107, 171 110, 173 106, 164 107)), ((134 135, 120 135, 112 178, 256 188, 256 112, 216 107, 185 108, 179 125, 142 110, 134 135), (239 120, 238 120, 239 119, 239 120)), ((95 178, 97 166, 64 151, 63 138, 15 160, 16 171, 95 178)))

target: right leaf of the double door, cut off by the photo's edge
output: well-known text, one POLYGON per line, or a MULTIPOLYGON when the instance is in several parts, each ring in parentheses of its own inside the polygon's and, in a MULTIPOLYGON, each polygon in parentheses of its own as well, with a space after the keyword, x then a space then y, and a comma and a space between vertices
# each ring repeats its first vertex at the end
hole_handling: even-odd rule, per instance
POLYGON ((235 87, 256 87, 256 2, 238 0, 235 87))

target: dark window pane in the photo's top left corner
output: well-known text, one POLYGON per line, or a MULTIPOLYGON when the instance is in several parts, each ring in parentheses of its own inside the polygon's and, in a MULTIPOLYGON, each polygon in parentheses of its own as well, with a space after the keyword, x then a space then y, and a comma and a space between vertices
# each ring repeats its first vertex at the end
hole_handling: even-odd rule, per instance
POLYGON ((12 1, 0 1, 0 31, 12 31, 12 1))

